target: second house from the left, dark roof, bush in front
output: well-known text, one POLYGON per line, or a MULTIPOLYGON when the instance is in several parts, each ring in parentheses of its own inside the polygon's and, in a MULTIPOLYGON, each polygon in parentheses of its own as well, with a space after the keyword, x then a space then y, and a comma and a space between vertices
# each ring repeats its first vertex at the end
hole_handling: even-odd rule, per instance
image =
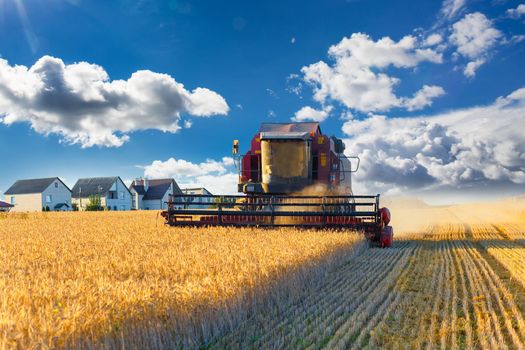
POLYGON ((131 210, 131 192, 119 176, 79 179, 72 191, 79 210, 85 210, 93 196, 107 210, 131 210))

